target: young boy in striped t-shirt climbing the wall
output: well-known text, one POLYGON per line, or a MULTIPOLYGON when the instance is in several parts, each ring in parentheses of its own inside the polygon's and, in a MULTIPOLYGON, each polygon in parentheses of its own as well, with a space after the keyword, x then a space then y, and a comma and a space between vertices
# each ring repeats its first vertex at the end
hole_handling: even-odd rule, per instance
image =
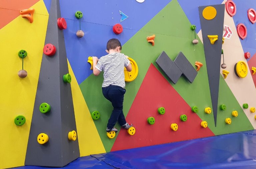
POLYGON ((125 93, 125 82, 124 82, 124 67, 128 72, 132 71, 130 61, 127 59, 128 56, 121 54, 122 46, 118 39, 110 39, 107 43, 106 52, 108 55, 98 59, 93 59, 93 74, 98 76, 101 71, 103 74, 102 93, 106 99, 111 101, 113 106, 112 114, 108 120, 107 132, 118 130, 114 127, 116 122, 123 128, 130 128, 124 117, 123 113, 123 101, 125 93))

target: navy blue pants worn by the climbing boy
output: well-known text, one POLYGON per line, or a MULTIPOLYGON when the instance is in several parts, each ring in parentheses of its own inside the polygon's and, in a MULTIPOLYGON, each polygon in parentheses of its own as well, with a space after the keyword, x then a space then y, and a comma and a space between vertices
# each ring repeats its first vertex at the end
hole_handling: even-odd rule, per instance
POLYGON ((102 93, 106 99, 108 99, 113 106, 112 114, 108 120, 107 127, 112 129, 116 122, 122 126, 126 124, 126 120, 123 113, 123 101, 125 89, 120 86, 110 85, 108 87, 102 87, 102 93))

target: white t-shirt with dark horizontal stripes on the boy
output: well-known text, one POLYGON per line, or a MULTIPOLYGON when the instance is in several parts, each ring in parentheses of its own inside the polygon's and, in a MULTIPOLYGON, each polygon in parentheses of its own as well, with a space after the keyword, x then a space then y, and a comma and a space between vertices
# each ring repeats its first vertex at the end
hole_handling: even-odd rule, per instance
POLYGON ((101 57, 95 68, 104 72, 102 87, 117 85, 124 88, 124 67, 129 64, 130 61, 121 53, 112 53, 101 57))

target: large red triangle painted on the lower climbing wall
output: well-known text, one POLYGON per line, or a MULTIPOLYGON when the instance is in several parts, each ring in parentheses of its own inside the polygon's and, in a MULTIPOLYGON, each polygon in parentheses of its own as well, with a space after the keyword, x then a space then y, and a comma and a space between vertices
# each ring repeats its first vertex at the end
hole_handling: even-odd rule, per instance
POLYGON ((208 127, 201 127, 200 117, 152 64, 126 120, 133 123, 136 133, 129 135, 126 129, 121 129, 111 151, 214 136, 208 127), (165 114, 159 114, 158 107, 165 107, 165 114), (180 120, 181 114, 187 115, 186 122, 180 120), (147 122, 150 116, 155 118, 153 125, 147 122), (178 124, 177 131, 170 128, 171 123, 178 124))

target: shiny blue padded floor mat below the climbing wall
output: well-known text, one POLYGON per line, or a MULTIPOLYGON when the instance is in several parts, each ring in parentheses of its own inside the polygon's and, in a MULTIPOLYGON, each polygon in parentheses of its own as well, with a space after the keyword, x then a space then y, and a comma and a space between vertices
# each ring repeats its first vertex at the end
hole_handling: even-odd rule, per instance
POLYGON ((255 169, 256 130, 80 157, 63 168, 255 169))

